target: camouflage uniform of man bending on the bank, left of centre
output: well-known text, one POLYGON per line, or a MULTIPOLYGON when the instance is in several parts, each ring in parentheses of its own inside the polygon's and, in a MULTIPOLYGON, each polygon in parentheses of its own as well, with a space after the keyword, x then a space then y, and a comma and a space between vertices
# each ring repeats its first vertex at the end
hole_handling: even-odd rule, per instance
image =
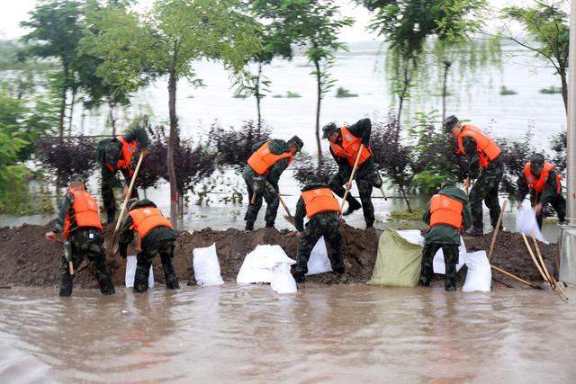
MULTIPOLYGON (((266 141, 257 143, 257 145, 252 148, 253 152, 256 152, 265 143, 266 141)), ((269 140, 268 147, 270 148, 270 151, 276 155, 290 151, 288 143, 279 139, 269 140)), ((288 160, 283 158, 277 161, 275 165, 272 165, 268 170, 268 174, 265 175, 257 174, 250 165, 246 165, 242 177, 246 182, 248 193, 248 209, 246 211, 246 216, 244 217, 244 220, 247 222, 247 228, 253 226, 254 222, 256 222, 258 212, 260 211, 260 208, 262 208, 263 198, 266 201, 266 215, 264 217, 266 220, 266 227, 274 227, 276 214, 278 213, 278 205, 280 204, 280 200, 278 199, 278 182, 280 176, 289 164, 288 160), (252 204, 252 196, 255 191, 257 191, 257 197, 255 203, 252 204)))

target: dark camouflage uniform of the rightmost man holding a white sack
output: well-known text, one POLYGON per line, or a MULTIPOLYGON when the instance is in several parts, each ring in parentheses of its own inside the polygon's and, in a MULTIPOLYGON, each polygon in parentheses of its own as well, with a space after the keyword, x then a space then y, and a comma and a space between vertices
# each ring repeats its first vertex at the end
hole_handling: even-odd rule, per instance
POLYGON ((524 173, 520 174, 518 177, 518 192, 516 199, 518 202, 524 201, 528 192, 530 192, 530 204, 534 207, 537 203, 542 204, 543 210, 540 211, 539 215, 536 215, 536 221, 538 222, 538 227, 542 228, 542 219, 544 207, 546 204, 550 203, 556 213, 558 214, 558 221, 561 223, 566 219, 566 199, 561 192, 558 192, 558 182, 556 181, 556 170, 553 169, 548 174, 548 180, 546 181, 545 189, 542 193, 537 193, 534 189, 528 187, 526 183, 526 177, 524 173))

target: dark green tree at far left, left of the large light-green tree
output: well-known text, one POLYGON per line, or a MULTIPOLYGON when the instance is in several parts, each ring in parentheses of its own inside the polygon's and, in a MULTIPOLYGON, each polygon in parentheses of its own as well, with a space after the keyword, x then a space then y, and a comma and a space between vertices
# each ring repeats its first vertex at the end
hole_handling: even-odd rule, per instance
POLYGON ((60 138, 64 136, 67 92, 76 89, 74 79, 76 49, 82 38, 82 28, 78 23, 81 13, 81 4, 77 1, 49 0, 37 5, 30 13, 30 20, 21 23, 24 28, 31 29, 23 37, 24 41, 35 43, 30 53, 39 58, 58 58, 60 63, 60 75, 54 78, 60 92, 60 138))

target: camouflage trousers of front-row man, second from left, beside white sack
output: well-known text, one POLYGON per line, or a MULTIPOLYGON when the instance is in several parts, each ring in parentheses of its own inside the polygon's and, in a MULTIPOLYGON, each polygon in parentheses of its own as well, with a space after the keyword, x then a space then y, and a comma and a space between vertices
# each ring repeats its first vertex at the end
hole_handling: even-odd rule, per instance
POLYGON ((156 254, 160 254, 162 267, 164 268, 164 281, 166 288, 177 290, 178 276, 176 275, 172 258, 174 257, 174 240, 161 240, 151 242, 137 255, 136 273, 134 275, 134 292, 145 292, 148 290, 148 276, 150 274, 150 265, 156 254))

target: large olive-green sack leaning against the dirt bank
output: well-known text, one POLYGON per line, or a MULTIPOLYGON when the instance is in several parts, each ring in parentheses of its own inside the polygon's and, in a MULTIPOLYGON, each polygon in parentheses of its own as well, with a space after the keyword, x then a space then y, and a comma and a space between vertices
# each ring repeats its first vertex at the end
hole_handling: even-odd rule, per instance
POLYGON ((409 243, 393 229, 384 229, 378 241, 378 257, 368 284, 416 287, 420 279, 422 246, 409 243))

